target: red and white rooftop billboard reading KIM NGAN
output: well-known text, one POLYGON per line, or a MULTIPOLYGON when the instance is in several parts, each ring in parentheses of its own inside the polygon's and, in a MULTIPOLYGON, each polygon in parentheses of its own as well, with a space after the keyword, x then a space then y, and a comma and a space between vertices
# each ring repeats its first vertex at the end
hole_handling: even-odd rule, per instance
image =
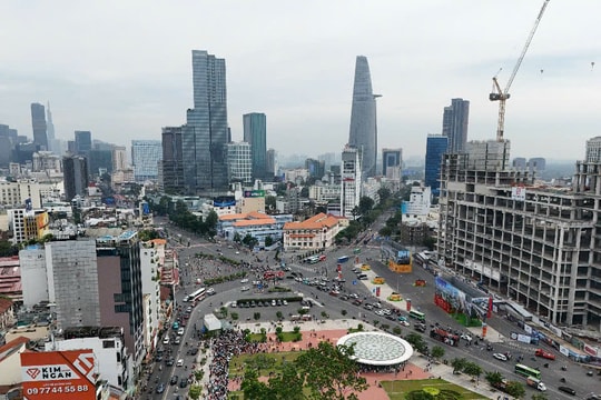
POLYGON ((21 353, 23 399, 96 399, 98 361, 91 350, 21 353))

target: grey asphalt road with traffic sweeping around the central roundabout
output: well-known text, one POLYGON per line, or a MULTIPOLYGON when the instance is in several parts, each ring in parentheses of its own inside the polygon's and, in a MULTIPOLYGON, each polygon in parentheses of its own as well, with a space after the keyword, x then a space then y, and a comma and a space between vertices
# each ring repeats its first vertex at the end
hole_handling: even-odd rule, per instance
MULTIPOLYGON (((374 231, 377 231, 380 229, 378 227, 383 223, 383 221, 385 221, 385 218, 387 217, 388 216, 383 216, 381 220, 375 222, 373 227, 374 231)), ((177 229, 173 227, 169 227, 169 229, 176 234, 178 233, 177 229)), ((257 270, 259 267, 270 267, 276 269, 279 266, 279 262, 274 259, 275 252, 259 252, 258 254, 255 254, 245 249, 236 248, 235 246, 228 248, 226 242, 221 244, 215 244, 195 238, 186 232, 179 232, 179 234, 181 234, 183 238, 190 238, 190 247, 181 247, 179 249, 179 257, 183 266, 183 281, 187 284, 184 286, 184 288, 176 293, 176 301, 178 303, 181 303, 181 299, 184 298, 185 293, 190 292, 196 288, 193 276, 194 271, 190 270, 189 266, 186 267, 186 262, 188 262, 187 260, 191 259, 197 252, 213 254, 218 254, 219 252, 221 252, 227 258, 246 261, 257 270), (260 262, 257 261, 257 257, 260 262)), ((184 239, 184 241, 187 242, 186 239, 184 239)), ((368 243, 367 246, 353 244, 347 247, 334 247, 333 249, 326 251, 327 259, 325 261, 313 266, 297 261, 297 256, 300 254, 299 252, 284 253, 283 259, 286 262, 286 266, 292 269, 292 271, 287 273, 287 277, 290 277, 292 272, 295 272, 297 274, 303 274, 303 277, 319 276, 332 279, 337 276, 337 258, 342 256, 349 256, 353 259, 353 250, 356 247, 359 247, 362 250, 359 256, 359 262, 368 262, 374 272, 385 278, 386 282, 390 282, 395 291, 401 292, 406 299, 412 299, 412 307, 420 309, 426 314, 427 323, 439 322, 444 327, 450 326, 452 329, 465 331, 464 327, 459 324, 454 319, 446 314, 446 312, 444 312, 442 309, 434 304, 434 286, 431 284, 434 277, 428 271, 416 267, 413 269, 412 273, 400 276, 388 270, 387 267, 385 267, 382 262, 377 261, 380 258, 380 247, 376 246, 376 243, 368 243), (366 261, 367 259, 368 261, 366 261), (415 287, 412 283, 416 279, 424 279, 428 282, 428 284, 426 287, 415 287)), ((377 301, 377 299, 367 289, 367 287, 364 286, 361 281, 356 280, 356 276, 351 271, 353 267, 352 261, 353 260, 343 264, 342 276, 346 280, 346 282, 342 284, 341 294, 356 293, 357 296, 359 296, 361 299, 365 299, 365 302, 377 301)), ((249 274, 253 273, 250 269, 246 270, 249 274)), ((250 276, 249 280, 253 281, 255 278, 256 276, 250 276)), ((264 300, 289 296, 289 293, 272 294, 259 291, 242 292, 240 288, 248 284, 249 283, 242 283, 239 280, 236 280, 233 282, 226 282, 215 286, 214 288, 216 290, 216 294, 208 297, 195 308, 181 342, 185 343, 187 341, 190 346, 197 346, 199 341, 193 337, 194 329, 190 328, 194 328, 194 324, 199 328, 201 324, 203 316, 208 312, 215 311, 221 304, 227 306, 230 304, 233 301, 239 299, 256 298, 258 301, 259 299, 264 300)), ((413 328, 402 327, 397 322, 393 322, 385 319, 384 317, 380 317, 373 311, 368 311, 363 307, 354 306, 351 301, 345 301, 338 297, 329 296, 327 291, 319 291, 315 287, 309 287, 293 279, 284 279, 277 284, 288 287, 289 289, 292 289, 293 292, 302 293, 305 298, 315 300, 314 302, 316 303, 316 306, 311 309, 309 314, 316 319, 323 318, 322 312, 325 312, 325 318, 327 319, 356 318, 364 320, 368 323, 378 321, 380 324, 388 324, 391 327, 391 331, 393 327, 398 326, 402 328, 402 334, 406 334, 410 331, 415 332, 413 328)), ((300 306, 298 303, 289 303, 288 306, 280 307, 267 306, 256 308, 228 309, 229 313, 236 312, 238 314, 238 321, 245 322, 253 321, 256 313, 260 313, 262 321, 276 321, 278 311, 282 312, 284 318, 288 318, 290 314, 297 314, 299 307, 300 306)), ((493 317, 487 321, 487 323, 490 327, 492 327, 505 338, 509 338, 511 331, 519 331, 519 328, 516 326, 502 318, 493 317)), ((509 339, 503 343, 494 342, 494 350, 486 351, 484 346, 467 347, 465 346, 466 342, 463 340, 459 347, 449 347, 431 339, 427 334, 423 334, 423 338, 427 342, 430 348, 436 344, 442 346, 445 349, 444 358, 447 360, 451 360, 453 358, 466 358, 470 361, 479 363, 485 371, 500 371, 505 378, 510 380, 518 380, 524 382, 525 384, 525 379, 521 376, 515 374, 513 371, 515 358, 520 354, 524 356, 524 361, 522 361, 523 363, 530 367, 536 367, 541 370, 542 380, 549 388, 546 393, 550 399, 571 398, 563 392, 559 392, 556 390, 559 386, 572 387, 577 389, 579 397, 584 397, 585 394, 594 390, 592 386, 597 382, 598 379, 597 377, 587 377, 584 370, 581 367, 571 363, 570 361, 568 361, 568 359, 563 357, 558 357, 556 361, 548 361, 544 359, 534 358, 533 353, 536 347, 519 343, 509 339), (514 358, 513 360, 506 362, 500 361, 492 357, 493 352, 511 352, 514 358), (544 368, 544 363, 549 363, 550 368, 544 368), (561 366, 568 366, 568 371, 562 371, 561 366), (566 383, 560 383, 561 378, 565 378, 566 383)), ((494 338, 491 338, 491 340, 494 341, 494 338)), ((176 360, 181 358, 184 359, 185 364, 191 366, 195 357, 186 354, 189 347, 186 347, 185 344, 170 346, 176 360)), ((185 376, 189 373, 189 370, 190 367, 188 367, 188 370, 185 370, 181 367, 164 366, 162 371, 159 371, 159 381, 167 384, 167 390, 161 396, 157 396, 156 399, 174 399, 174 394, 177 393, 175 392, 175 387, 168 386, 170 377, 173 377, 174 374, 185 376)), ((187 389, 179 389, 179 393, 181 393, 183 390, 187 389)), ((530 397, 536 391, 534 389, 526 387, 526 397, 530 397)))

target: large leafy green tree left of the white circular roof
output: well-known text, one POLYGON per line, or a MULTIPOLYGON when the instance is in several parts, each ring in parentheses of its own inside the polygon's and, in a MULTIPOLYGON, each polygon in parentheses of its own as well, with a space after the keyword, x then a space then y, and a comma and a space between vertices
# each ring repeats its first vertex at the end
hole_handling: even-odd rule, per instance
POLYGON ((309 399, 356 400, 355 393, 367 389, 365 378, 358 377, 358 364, 352 359, 353 347, 319 342, 317 348, 303 352, 295 361, 309 399))

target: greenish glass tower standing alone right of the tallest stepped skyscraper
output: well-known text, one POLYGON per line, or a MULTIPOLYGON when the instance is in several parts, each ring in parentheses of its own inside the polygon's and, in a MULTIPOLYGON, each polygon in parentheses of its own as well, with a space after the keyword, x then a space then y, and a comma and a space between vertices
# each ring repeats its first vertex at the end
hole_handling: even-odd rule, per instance
POLYGON ((250 143, 253 178, 265 179, 267 168, 267 122, 264 113, 250 112, 243 116, 244 141, 250 143))

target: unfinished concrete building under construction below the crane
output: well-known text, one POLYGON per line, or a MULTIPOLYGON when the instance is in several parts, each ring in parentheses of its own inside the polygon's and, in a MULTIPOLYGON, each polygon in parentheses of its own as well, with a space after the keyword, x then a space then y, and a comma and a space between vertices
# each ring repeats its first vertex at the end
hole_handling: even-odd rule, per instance
POLYGON ((579 161, 571 188, 555 188, 510 168, 509 149, 444 154, 439 256, 554 324, 599 329, 601 160, 579 161))

